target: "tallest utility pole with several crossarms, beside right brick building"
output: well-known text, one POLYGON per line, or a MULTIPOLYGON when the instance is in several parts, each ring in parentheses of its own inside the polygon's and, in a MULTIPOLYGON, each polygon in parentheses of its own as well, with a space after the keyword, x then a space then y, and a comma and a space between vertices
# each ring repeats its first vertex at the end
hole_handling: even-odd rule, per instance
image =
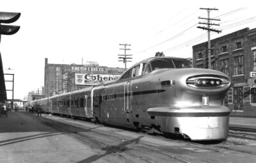
POLYGON ((211 20, 220 21, 220 19, 210 19, 210 12, 211 12, 211 10, 218 10, 216 8, 200 8, 200 10, 207 10, 207 15, 208 15, 207 18, 198 17, 198 19, 205 19, 205 20, 207 20, 206 23, 205 22, 199 22, 199 24, 206 24, 207 27, 200 27, 200 26, 198 26, 198 28, 205 29, 208 32, 208 48, 207 48, 207 50, 208 50, 208 64, 209 64, 208 69, 211 69, 212 66, 211 66, 211 38, 210 38, 210 31, 214 31, 216 33, 221 33, 220 30, 210 28, 211 26, 220 26, 220 24, 211 23, 211 20))

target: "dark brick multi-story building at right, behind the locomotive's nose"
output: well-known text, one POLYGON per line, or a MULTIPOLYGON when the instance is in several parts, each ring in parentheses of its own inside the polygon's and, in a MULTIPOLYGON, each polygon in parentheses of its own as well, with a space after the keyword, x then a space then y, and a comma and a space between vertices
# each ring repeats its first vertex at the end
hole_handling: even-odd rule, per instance
MULTIPOLYGON (((211 40, 211 65, 232 81, 225 99, 231 115, 256 116, 256 28, 211 40)), ((208 68, 207 42, 193 46, 193 66, 208 68)))

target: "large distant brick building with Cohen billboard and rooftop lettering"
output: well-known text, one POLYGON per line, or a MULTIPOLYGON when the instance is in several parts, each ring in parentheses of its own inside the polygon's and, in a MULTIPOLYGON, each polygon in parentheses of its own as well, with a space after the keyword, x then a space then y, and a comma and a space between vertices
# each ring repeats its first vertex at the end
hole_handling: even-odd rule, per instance
POLYGON ((125 68, 90 65, 49 64, 45 58, 44 94, 45 97, 97 86, 119 77, 125 68))

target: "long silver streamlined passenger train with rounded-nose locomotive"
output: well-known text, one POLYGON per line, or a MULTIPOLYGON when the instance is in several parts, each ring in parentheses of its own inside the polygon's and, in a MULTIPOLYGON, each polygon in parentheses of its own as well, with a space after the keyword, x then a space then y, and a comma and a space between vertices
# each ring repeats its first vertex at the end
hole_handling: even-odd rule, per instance
POLYGON ((148 132, 180 134, 193 141, 225 140, 231 110, 223 105, 230 79, 192 68, 184 58, 154 57, 113 81, 31 102, 45 113, 148 132))

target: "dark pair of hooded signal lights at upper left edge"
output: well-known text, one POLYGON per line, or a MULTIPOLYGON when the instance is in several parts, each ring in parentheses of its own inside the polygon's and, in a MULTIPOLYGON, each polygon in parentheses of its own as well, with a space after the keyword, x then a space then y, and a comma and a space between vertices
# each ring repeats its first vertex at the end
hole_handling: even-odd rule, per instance
POLYGON ((20 17, 20 13, 0 12, 0 41, 1 35, 13 35, 19 31, 20 26, 7 26, 1 23, 9 24, 15 22, 20 17))

